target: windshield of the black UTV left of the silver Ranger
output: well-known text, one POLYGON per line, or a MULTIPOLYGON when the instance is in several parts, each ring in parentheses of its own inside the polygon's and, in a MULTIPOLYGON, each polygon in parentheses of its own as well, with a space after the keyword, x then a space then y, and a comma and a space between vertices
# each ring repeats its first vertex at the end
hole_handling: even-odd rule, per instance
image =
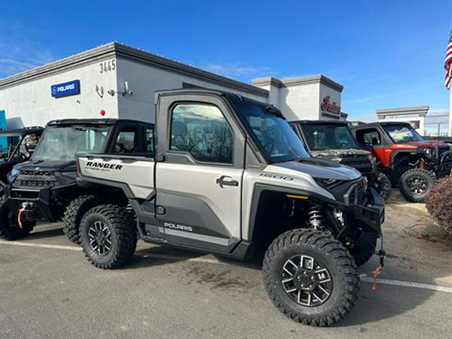
POLYGON ((31 158, 32 161, 72 161, 79 153, 103 150, 111 126, 47 127, 31 158))

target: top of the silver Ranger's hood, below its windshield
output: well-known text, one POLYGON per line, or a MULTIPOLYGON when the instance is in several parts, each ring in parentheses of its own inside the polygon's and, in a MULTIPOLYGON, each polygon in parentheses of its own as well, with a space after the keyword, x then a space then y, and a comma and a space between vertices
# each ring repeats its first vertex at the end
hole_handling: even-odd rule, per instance
POLYGON ((298 161, 273 164, 273 166, 306 173, 313 178, 355 180, 361 177, 361 173, 354 168, 321 158, 304 158, 298 161))

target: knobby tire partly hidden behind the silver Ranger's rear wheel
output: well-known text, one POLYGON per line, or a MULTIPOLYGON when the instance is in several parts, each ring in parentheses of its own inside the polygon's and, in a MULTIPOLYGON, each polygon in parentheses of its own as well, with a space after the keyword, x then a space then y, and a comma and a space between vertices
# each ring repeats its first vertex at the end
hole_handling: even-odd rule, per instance
POLYGON ((63 215, 63 232, 71 242, 80 244, 79 231, 83 215, 92 207, 102 203, 102 199, 95 195, 82 195, 69 203, 63 215))

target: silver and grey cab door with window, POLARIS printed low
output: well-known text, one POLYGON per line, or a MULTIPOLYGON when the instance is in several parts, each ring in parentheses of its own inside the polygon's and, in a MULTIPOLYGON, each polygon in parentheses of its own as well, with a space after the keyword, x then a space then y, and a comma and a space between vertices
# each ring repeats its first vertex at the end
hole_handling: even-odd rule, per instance
POLYGON ((158 107, 160 232, 173 244, 230 253, 241 240, 243 133, 217 96, 163 96, 158 107))

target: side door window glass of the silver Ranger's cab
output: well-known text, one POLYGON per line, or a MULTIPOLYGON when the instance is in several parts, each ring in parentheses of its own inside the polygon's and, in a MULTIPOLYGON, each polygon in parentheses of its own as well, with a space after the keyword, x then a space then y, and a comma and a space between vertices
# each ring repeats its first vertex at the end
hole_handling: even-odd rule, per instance
POLYGON ((200 162, 232 164, 233 133, 218 107, 178 104, 171 115, 170 150, 200 162))

